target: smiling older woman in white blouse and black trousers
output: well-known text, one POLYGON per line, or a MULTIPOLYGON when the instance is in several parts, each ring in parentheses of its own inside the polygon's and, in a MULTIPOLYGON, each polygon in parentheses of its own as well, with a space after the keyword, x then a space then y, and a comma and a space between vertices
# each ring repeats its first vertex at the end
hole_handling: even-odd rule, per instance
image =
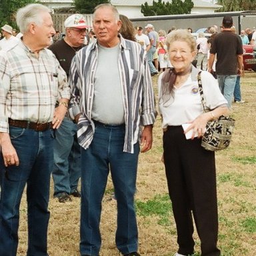
POLYGON ((201 137, 208 121, 228 113, 227 101, 217 80, 202 71, 209 109, 203 112, 199 69, 191 65, 197 53, 193 35, 178 29, 167 35, 166 44, 173 69, 159 76, 159 111, 163 119, 163 161, 177 227, 179 249, 175 255, 194 253, 194 219, 201 255, 219 256, 215 154, 201 147, 201 137))

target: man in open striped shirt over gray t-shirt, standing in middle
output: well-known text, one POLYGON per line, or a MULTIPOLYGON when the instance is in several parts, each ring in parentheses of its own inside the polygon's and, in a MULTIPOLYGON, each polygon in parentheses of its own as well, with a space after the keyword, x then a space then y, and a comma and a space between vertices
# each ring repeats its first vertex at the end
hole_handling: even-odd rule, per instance
POLYGON ((136 256, 134 209, 139 155, 151 149, 155 103, 145 51, 119 35, 117 9, 98 5, 97 41, 81 49, 69 72, 70 115, 78 123, 81 153, 81 255, 99 255, 99 221, 109 169, 117 199, 117 249, 136 256), (143 131, 140 133, 140 127, 143 131))

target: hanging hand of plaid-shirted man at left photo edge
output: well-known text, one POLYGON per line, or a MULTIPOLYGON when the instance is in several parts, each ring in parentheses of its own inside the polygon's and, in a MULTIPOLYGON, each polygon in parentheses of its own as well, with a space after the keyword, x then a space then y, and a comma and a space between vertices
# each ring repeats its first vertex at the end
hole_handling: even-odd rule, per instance
POLYGON ((0 133, 1 138, 1 149, 3 154, 3 161, 5 167, 9 165, 19 165, 19 157, 13 145, 11 144, 11 139, 9 133, 0 133))

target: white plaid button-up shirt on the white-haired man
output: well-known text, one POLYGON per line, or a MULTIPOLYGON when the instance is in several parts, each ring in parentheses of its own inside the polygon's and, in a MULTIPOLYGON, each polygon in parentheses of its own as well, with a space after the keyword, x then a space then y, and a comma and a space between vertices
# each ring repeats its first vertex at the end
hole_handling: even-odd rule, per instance
POLYGON ((0 132, 9 132, 8 118, 51 122, 59 98, 69 99, 70 87, 51 51, 37 57, 22 41, 0 51, 0 132))

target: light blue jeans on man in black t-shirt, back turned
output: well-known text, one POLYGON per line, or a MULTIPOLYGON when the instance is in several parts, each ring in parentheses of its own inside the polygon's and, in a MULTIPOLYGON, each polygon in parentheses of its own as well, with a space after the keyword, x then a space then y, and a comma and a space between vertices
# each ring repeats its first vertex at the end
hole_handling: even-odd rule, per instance
POLYGON ((237 75, 217 75, 217 79, 219 82, 219 89, 225 99, 227 99, 227 106, 231 108, 237 75))

